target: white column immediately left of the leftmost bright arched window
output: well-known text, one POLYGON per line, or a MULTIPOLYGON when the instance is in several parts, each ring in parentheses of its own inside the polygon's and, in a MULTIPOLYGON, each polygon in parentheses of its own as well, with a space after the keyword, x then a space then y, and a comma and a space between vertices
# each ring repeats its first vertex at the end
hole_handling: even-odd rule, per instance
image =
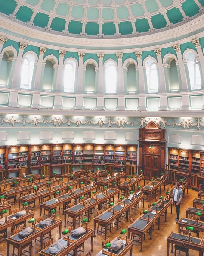
POLYGON ((13 80, 12 80, 12 88, 19 88, 20 87, 20 78, 21 78, 21 67, 22 67, 22 57, 23 51, 27 47, 26 43, 20 42, 19 53, 17 56, 17 60, 15 63, 15 69, 13 72, 13 80))

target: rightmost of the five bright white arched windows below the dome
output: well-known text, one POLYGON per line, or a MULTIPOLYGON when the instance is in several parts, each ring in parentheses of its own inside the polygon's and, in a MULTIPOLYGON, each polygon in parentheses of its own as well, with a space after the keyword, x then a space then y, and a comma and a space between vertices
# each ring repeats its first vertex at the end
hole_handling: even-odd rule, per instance
POLYGON ((189 71, 191 89, 201 89, 201 70, 195 53, 189 51, 186 53, 185 58, 189 71))

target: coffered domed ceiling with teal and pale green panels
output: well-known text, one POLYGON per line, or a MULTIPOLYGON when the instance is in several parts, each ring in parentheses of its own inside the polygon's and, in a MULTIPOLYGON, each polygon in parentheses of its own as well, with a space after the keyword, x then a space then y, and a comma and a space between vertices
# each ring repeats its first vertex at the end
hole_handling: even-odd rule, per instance
POLYGON ((204 13, 204 0, 0 0, 0 13, 62 35, 115 38, 170 29, 204 13))

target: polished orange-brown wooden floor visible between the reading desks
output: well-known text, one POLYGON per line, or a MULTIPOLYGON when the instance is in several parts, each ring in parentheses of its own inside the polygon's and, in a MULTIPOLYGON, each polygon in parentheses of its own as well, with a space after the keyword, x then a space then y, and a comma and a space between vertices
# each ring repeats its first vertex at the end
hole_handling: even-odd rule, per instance
MULTIPOLYGON (((164 187, 162 187, 164 188, 164 187)), ((161 195, 165 195, 164 189, 162 189, 161 195)), ((180 217, 185 217, 185 210, 189 205, 192 205, 193 199, 198 198, 198 192, 195 190, 189 189, 189 194, 187 195, 185 193, 185 198, 183 199, 182 205, 181 205, 181 213, 180 217)), ((115 197, 115 202, 117 202, 117 196, 115 197)), ((154 202, 154 201, 152 201, 154 202)), ((13 205, 12 208, 18 207, 17 205, 13 205)), ((148 202, 145 200, 145 209, 148 208, 148 202)), ((139 210, 142 210, 142 207, 139 208, 139 210)), ((155 230, 152 233, 152 240, 149 240, 148 235, 146 236, 145 242, 143 243, 143 252, 140 252, 140 244, 137 242, 133 243, 133 256, 165 256, 167 255, 167 237, 171 233, 171 231, 178 232, 178 224, 175 222, 176 218, 176 209, 173 207, 173 214, 170 215, 170 208, 168 208, 167 211, 167 222, 164 222, 164 219, 161 219, 161 227, 160 230, 155 230)), ((97 214, 97 213, 96 213, 97 214)), ((134 216, 136 219, 139 216, 139 211, 137 215, 133 215, 133 210, 131 211, 131 217, 134 216)), ((39 205, 35 208, 35 217, 40 216, 40 209, 39 205)), ((57 217, 59 218, 59 210, 57 212, 57 217)), ((62 211, 60 212, 60 218, 62 218, 62 230, 64 230, 64 216, 62 215, 62 211)), ((77 222, 78 223, 78 222, 77 222)), ((111 238, 111 240, 120 235, 120 231, 123 228, 126 228, 130 224, 129 222, 126 222, 126 220, 123 220, 122 224, 119 225, 119 230, 116 230, 115 226, 112 229, 111 233, 108 233, 108 237, 111 238)), ((30 224, 29 224, 30 225, 30 224)), ((93 227, 93 219, 91 219, 89 223, 89 227, 93 227)), ((8 236, 10 236, 10 228, 8 230, 8 236)), ((56 228, 52 231, 52 237, 53 241, 56 241, 59 239, 59 229, 56 228)), ((203 238, 203 234, 200 233, 200 237, 203 238)), ((104 240, 104 235, 96 234, 96 237, 94 238, 94 250, 91 253, 92 256, 95 256, 101 249, 102 249, 102 240, 104 240)), ((12 247, 12 246, 11 246, 12 247)), ((90 250, 91 243, 90 239, 85 242, 85 253, 87 253, 90 250)), ((40 243, 33 242, 33 248, 32 248, 32 256, 39 255, 38 252, 40 251, 40 243)), ((6 255, 6 240, 1 239, 0 240, 0 253, 3 253, 6 255)), ((28 255, 28 254, 25 254, 28 255)), ((79 254, 78 254, 79 255, 79 254)), ((129 255, 129 254, 127 254, 129 255)), ((173 256, 173 253, 170 253, 170 256, 173 256)), ((178 255, 178 251, 177 251, 178 255)), ((181 252, 181 255, 185 255, 185 253, 181 252)), ((190 255, 195 256, 198 255, 198 252, 195 252, 193 250, 190 250, 190 255)), ((12 256, 12 248, 10 249, 9 256, 12 256)), ((81 253, 82 256, 82 253, 81 253)))

